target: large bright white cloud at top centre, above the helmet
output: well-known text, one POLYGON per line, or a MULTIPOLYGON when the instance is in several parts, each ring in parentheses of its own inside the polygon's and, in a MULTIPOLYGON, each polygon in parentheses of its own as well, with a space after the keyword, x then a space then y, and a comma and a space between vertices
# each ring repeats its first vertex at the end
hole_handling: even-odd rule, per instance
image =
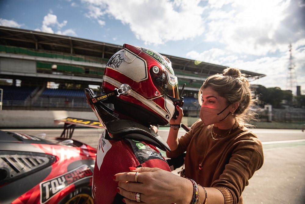
POLYGON ((160 0, 158 2, 125 0, 82 0, 88 5, 87 17, 105 15, 130 27, 145 44, 163 44, 169 40, 192 39, 204 31, 204 8, 199 0, 160 0))

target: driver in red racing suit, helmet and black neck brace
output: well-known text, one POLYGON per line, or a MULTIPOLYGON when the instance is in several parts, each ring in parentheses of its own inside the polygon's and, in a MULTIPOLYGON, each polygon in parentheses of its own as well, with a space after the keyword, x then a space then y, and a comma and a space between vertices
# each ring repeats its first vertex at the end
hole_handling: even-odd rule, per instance
MULTIPOLYGON (((96 96, 85 89, 88 104, 106 128, 98 144, 92 196, 95 203, 123 203, 113 175, 141 166, 170 171, 156 147, 170 149, 151 127, 166 125, 173 116, 178 79, 167 57, 124 44, 106 65, 102 91, 96 96)), ((134 200, 139 202, 140 195, 135 194, 134 200)))

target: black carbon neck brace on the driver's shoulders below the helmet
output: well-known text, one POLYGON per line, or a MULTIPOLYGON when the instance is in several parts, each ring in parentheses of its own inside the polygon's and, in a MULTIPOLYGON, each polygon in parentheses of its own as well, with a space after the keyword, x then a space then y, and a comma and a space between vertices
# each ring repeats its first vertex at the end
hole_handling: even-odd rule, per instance
MULTIPOLYGON (((150 128, 145 127, 142 124, 139 124, 135 121, 131 120, 124 120, 118 117, 115 117, 112 113, 113 110, 109 109, 105 106, 102 101, 95 101, 94 99, 97 98, 94 92, 91 89, 84 89, 87 102, 93 112, 95 113, 96 117, 99 119, 100 123, 106 128, 107 134, 105 139, 108 140, 120 140, 120 139, 139 139, 145 140, 152 145, 160 148, 163 151, 169 151, 170 148, 168 147, 167 143, 154 131, 150 128)), ((112 93, 112 92, 111 92, 112 93)), ((102 96, 106 96, 103 99, 107 99, 108 94, 104 94, 102 96)), ((115 96, 115 95, 109 95, 115 96)))

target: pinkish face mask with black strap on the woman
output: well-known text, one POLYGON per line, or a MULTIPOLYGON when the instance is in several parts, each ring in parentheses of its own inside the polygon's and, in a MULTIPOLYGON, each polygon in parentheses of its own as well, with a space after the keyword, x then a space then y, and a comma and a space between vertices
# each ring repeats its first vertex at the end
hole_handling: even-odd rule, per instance
MULTIPOLYGON (((228 105, 225 109, 227 109, 230 105, 228 105)), ((219 123, 223 121, 228 115, 231 113, 229 112, 227 115, 224 113, 224 110, 222 111, 213 109, 213 108, 207 108, 207 107, 201 107, 200 108, 200 114, 199 117, 203 121, 203 124, 210 125, 214 123, 219 123)))

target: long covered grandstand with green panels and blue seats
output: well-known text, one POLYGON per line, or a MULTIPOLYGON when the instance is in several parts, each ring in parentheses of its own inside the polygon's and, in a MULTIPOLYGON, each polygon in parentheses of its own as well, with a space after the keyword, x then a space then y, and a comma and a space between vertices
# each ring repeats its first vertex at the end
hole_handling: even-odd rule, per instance
MULTIPOLYGON (((12 80, 10 86, 0 86, 3 109, 88 111, 83 88, 101 85, 107 61, 121 48, 122 45, 0 26, 0 78, 12 80), (21 80, 20 87, 16 87, 16 80, 21 80), (59 88, 52 89, 50 82, 59 84, 59 88), (67 88, 66 84, 71 86, 67 88)), ((162 55, 171 60, 179 88, 186 83, 185 115, 197 116, 199 87, 207 76, 221 73, 225 66, 162 55)), ((250 81, 265 76, 242 72, 250 81)))

